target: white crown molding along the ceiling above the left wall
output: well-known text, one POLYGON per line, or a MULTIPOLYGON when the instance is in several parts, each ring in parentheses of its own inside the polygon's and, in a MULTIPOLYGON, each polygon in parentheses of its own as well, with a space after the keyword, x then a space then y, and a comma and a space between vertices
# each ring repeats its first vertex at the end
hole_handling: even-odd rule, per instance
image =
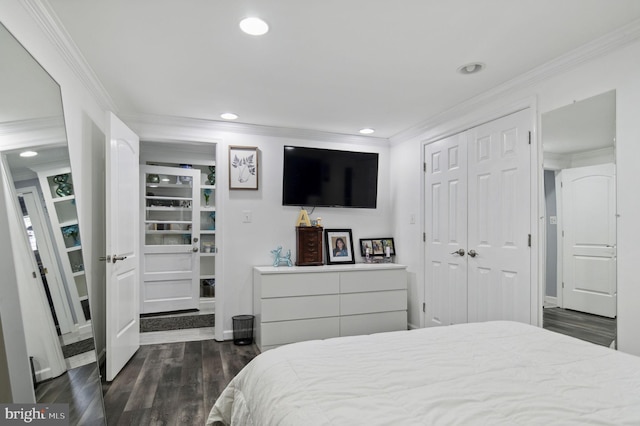
POLYGON ((49 2, 47 0, 22 0, 21 3, 98 105, 106 111, 117 112, 113 99, 67 33, 49 2))

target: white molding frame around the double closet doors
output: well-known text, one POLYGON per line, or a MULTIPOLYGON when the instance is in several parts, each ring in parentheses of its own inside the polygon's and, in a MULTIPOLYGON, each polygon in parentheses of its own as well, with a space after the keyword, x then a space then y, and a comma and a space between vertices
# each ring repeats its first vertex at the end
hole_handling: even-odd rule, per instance
MULTIPOLYGON (((507 115, 529 109, 531 120, 531 324, 542 326, 542 309, 544 306, 544 280, 540 280, 540 276, 544 274, 544 233, 540 230, 544 229, 544 215, 541 208, 544 207, 544 192, 540 192, 540 188, 544 188, 544 173, 542 173, 542 143, 540 141, 540 114, 538 111, 538 99, 536 96, 528 96, 501 106, 487 106, 478 108, 472 112, 461 115, 453 120, 446 120, 433 126, 433 130, 424 133, 420 137, 420 159, 422 164, 425 163, 424 152, 426 145, 437 142, 441 139, 453 136, 457 133, 464 132, 482 124, 495 121, 507 115)), ((426 232, 426 211, 425 211, 425 176, 420 179, 420 231, 422 235, 426 232)), ((426 303, 426 259, 427 244, 423 242, 420 248, 422 259, 422 300, 426 303)), ((420 312, 420 326, 425 327, 425 312, 420 312)))

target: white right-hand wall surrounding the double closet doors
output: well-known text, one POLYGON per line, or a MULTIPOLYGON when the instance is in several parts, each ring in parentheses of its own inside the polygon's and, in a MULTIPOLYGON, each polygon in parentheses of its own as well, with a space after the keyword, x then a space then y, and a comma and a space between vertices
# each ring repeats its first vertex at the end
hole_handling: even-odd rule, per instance
MULTIPOLYGON (((606 56, 583 62, 554 77, 548 78, 520 90, 512 90, 496 100, 487 101, 468 116, 491 115, 493 111, 508 108, 522 99, 535 97, 537 117, 568 105, 574 101, 616 90, 617 96, 617 146, 616 163, 618 170, 618 348, 622 351, 640 355, 640 339, 636 324, 640 323, 640 280, 636 268, 640 255, 640 197, 637 194, 637 181, 640 178, 638 159, 640 158, 640 42, 618 49, 606 56)), ((406 182, 419 182, 421 177, 421 143, 424 140, 446 133, 454 128, 464 117, 454 121, 435 123, 432 129, 406 141, 394 141, 391 149, 392 180, 391 191, 397 194, 398 204, 403 209, 422 211, 420 185, 406 185, 406 182)), ((468 121, 472 120, 469 118, 468 121)), ((539 132, 538 132, 539 133, 539 132)), ((410 234, 413 226, 408 225, 404 216, 394 216, 395 233, 410 234)), ((400 253, 411 247, 403 247, 407 241, 401 241, 400 253)), ((534 239, 535 244, 535 239, 534 239)), ((534 246, 535 248, 535 246, 534 246)), ((418 252, 423 250, 422 243, 413 246, 418 252)), ((401 256, 403 256, 401 254, 401 256)), ((417 274, 418 286, 424 284, 421 259, 405 258, 401 262, 417 274)), ((419 289, 419 292, 423 289, 419 289)), ((423 294, 420 295, 422 298, 423 294)), ((423 299, 411 300, 410 318, 420 312, 423 299)), ((423 319, 421 320, 423 321, 423 319)))

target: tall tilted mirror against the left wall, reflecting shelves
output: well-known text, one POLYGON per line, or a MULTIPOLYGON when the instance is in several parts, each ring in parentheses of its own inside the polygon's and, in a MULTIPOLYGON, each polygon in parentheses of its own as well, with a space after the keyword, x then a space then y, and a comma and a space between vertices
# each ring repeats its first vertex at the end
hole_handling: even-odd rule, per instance
POLYGON ((71 424, 104 419, 60 87, 1 24, 0 56, 0 171, 13 182, 7 209, 36 401, 69 403, 71 424))

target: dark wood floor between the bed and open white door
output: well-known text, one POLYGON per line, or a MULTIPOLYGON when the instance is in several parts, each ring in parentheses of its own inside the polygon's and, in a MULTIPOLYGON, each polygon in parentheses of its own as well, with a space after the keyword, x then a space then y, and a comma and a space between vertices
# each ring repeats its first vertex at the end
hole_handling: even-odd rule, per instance
POLYGON ((204 425, 218 395, 257 354, 233 342, 141 346, 118 377, 103 384, 108 425, 204 425))

